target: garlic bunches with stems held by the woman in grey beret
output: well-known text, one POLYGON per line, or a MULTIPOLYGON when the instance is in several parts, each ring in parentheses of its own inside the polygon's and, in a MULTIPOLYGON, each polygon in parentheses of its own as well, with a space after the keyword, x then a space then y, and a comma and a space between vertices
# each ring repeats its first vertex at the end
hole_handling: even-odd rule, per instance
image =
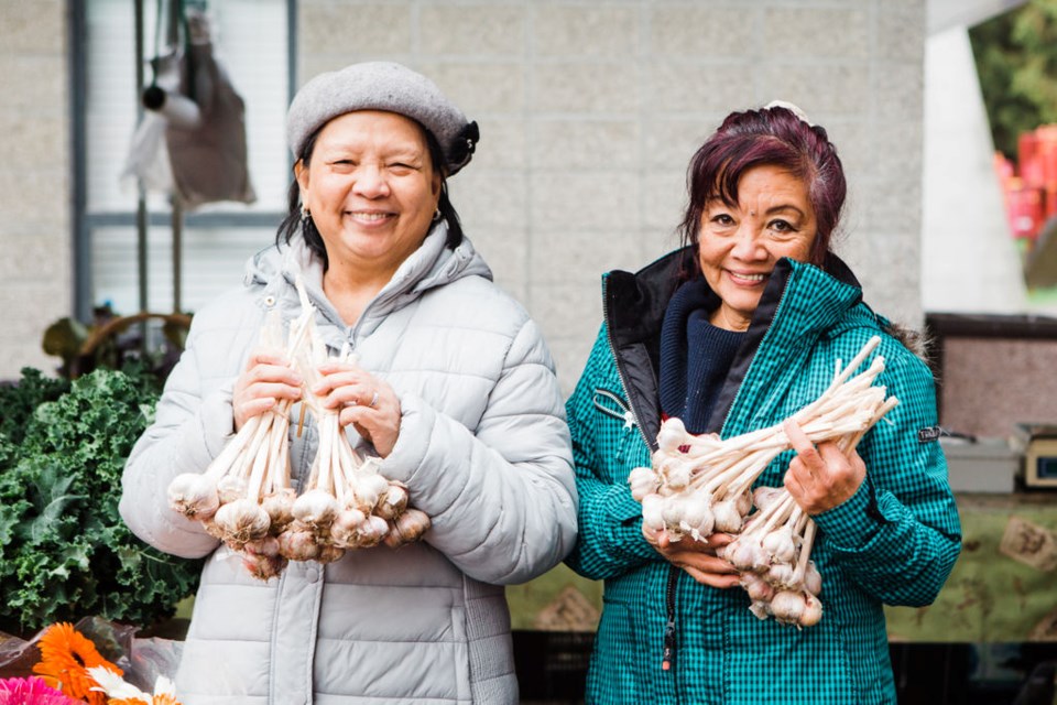
MULTIPOLYGON (((312 411, 318 422, 319 447, 302 495, 291 482, 291 403, 285 400, 250 417, 205 473, 178 475, 168 487, 170 506, 200 521, 261 579, 277 576, 287 561, 329 563, 346 550, 383 541, 399 547, 429 528, 424 512, 407 507, 407 488, 382 477, 377 459, 352 449, 339 410, 326 409, 310 393, 329 357, 315 328, 316 310, 297 284, 302 314, 291 323, 285 344, 275 311, 265 319, 260 344, 281 350, 306 380, 302 415, 312 411)), ((355 361, 348 351, 338 359, 355 361)))

